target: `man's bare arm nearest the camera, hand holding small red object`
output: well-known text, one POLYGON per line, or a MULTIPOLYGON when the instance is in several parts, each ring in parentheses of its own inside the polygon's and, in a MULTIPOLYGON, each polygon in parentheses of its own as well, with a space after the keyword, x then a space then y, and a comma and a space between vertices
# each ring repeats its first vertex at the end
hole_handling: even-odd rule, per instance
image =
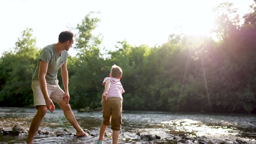
POLYGON ((42 93, 44 95, 46 107, 49 109, 50 112, 53 112, 50 109, 50 106, 52 105, 54 108, 55 108, 55 106, 54 106, 52 100, 50 99, 50 97, 48 95, 46 79, 45 79, 45 75, 46 75, 47 69, 48 69, 48 63, 46 63, 43 60, 41 60, 40 67, 39 67, 38 80, 39 80, 41 91, 42 91, 42 93))

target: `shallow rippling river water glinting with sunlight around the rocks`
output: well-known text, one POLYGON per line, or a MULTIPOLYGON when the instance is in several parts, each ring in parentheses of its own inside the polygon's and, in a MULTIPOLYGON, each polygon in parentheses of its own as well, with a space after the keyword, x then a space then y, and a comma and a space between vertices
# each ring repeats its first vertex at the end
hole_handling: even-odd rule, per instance
MULTIPOLYGON (((102 121, 101 112, 78 113, 73 111, 78 123, 83 129, 88 129, 92 134, 99 134, 102 121)), ((36 113, 34 108, 7 108, 0 107, 0 128, 12 128, 20 124, 24 128, 30 126, 30 122, 36 113)), ((65 119, 61 110, 56 109, 54 113, 48 112, 43 119, 41 127, 45 131, 63 131, 66 128, 75 133, 74 128, 65 119)), ((110 127, 107 131, 111 131, 110 127)), ((187 114, 167 112, 123 112, 123 125, 120 131, 120 144, 166 144, 177 143, 174 136, 183 133, 191 137, 205 136, 214 143, 228 141, 233 143, 236 139, 249 143, 256 143, 256 117, 254 115, 221 115, 221 114, 187 114), (162 138, 154 141, 141 141, 136 135, 141 134, 159 135, 162 138)), ((3 144, 25 143, 27 135, 3 136, 0 134, 0 142, 3 144)), ((96 137, 77 138, 74 136, 56 137, 52 135, 36 135, 34 143, 65 143, 65 144, 94 144, 96 137)), ((104 142, 112 143, 110 138, 104 142)), ((189 142, 191 143, 191 142, 189 142)))

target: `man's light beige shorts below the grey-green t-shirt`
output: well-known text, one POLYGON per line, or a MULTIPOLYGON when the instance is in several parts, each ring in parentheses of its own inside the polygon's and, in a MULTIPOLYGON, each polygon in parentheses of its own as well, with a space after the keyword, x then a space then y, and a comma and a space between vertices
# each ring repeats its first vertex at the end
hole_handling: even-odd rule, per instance
MULTIPOLYGON (((56 85, 51 85, 48 83, 46 84, 47 84, 47 92, 50 99, 55 103, 59 104, 64 97, 64 91, 60 88, 58 84, 56 85)), ((35 107, 38 105, 46 105, 44 100, 44 95, 40 88, 39 81, 32 81, 31 87, 33 90, 35 107)))

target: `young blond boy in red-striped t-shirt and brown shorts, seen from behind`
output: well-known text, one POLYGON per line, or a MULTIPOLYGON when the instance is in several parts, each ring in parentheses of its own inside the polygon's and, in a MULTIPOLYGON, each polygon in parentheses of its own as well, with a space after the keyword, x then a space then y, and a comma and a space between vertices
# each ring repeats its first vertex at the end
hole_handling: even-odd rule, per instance
POLYGON ((103 122, 100 127, 100 137, 96 144, 103 143, 103 137, 107 126, 111 123, 113 144, 117 144, 119 131, 122 124, 122 102, 124 93, 123 86, 120 82, 122 77, 122 69, 116 65, 112 66, 109 77, 103 81, 105 90, 102 94, 103 122), (111 121, 110 121, 111 120, 111 121))

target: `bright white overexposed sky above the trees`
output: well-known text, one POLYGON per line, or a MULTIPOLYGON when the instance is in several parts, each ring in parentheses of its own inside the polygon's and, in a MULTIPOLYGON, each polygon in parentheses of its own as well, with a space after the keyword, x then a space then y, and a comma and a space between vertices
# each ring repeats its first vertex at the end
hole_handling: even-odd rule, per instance
MULTIPOLYGON (((172 33, 205 35, 214 26, 212 8, 222 0, 2 0, 0 56, 13 48, 21 32, 33 29, 37 46, 57 43, 60 32, 76 27, 90 11, 101 22, 93 31, 103 36, 101 48, 117 41, 131 45, 162 45, 172 33), (177 29, 177 26, 181 26, 177 29)), ((253 0, 229 0, 242 16, 253 0)), ((76 55, 71 48, 69 54, 76 55)))

